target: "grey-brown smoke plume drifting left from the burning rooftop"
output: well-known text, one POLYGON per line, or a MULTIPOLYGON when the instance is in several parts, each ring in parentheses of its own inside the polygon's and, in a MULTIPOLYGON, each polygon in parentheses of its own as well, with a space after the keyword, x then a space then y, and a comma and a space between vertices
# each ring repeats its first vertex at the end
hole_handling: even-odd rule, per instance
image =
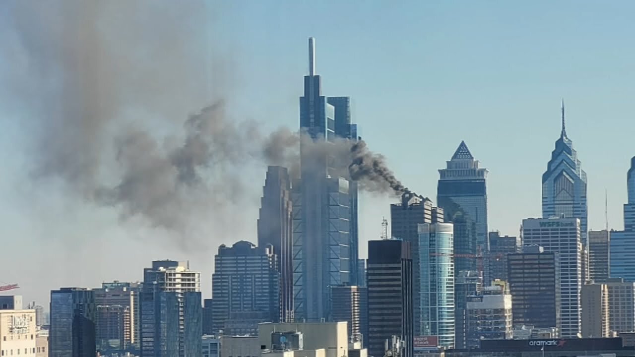
POLYGON ((15 109, 32 118, 36 182, 61 179, 69 196, 112 206, 121 219, 184 233, 205 217, 227 218, 253 184, 248 167, 284 165, 298 177, 300 146, 336 158, 335 168, 362 189, 408 191, 364 142, 313 142, 229 118, 231 61, 213 32, 210 14, 219 11, 205 3, 1 6, 0 53, 15 63, 2 74, 15 109))

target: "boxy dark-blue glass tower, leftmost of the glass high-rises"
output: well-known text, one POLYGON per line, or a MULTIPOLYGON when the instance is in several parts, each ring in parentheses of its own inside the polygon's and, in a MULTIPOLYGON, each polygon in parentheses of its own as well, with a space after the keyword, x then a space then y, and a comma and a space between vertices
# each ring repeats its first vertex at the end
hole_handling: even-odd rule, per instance
POLYGON ((95 292, 86 288, 51 291, 49 357, 95 356, 95 292))

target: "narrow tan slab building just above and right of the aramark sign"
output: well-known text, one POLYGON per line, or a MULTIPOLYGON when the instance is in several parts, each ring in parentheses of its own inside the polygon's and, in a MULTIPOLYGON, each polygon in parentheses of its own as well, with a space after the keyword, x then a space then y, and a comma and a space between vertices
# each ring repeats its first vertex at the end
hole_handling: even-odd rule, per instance
POLYGON ((582 285, 582 337, 609 337, 608 286, 606 284, 582 285))

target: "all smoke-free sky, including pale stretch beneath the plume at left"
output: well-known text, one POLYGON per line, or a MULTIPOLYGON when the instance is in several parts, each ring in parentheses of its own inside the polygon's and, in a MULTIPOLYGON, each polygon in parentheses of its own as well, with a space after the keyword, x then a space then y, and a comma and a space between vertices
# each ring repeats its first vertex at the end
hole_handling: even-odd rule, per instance
MULTIPOLYGON (((635 156, 635 2, 217 1, 208 9, 213 23, 200 27, 219 47, 210 51, 225 58, 234 118, 297 128, 314 36, 324 94, 352 97, 364 140, 397 177, 436 200, 437 170, 465 140, 490 170, 489 226, 504 234, 518 234, 523 218, 541 213, 540 177, 565 98, 567 132, 589 178, 589 227, 604 227, 607 189, 610 227, 621 229, 635 156)), ((210 295, 213 248, 190 257, 132 239, 147 232, 119 227, 115 212, 73 205, 55 191, 37 205, 20 201, 16 192, 32 189, 18 185, 25 162, 13 153, 25 151, 29 138, 20 118, 0 109, 0 234, 4 247, 19 252, 0 250, 0 272, 8 275, 0 281, 20 282, 25 299, 46 304, 52 288, 140 280, 151 259, 192 259, 210 295), (95 264, 69 273, 60 261, 95 264)), ((210 232, 215 245, 255 241, 259 174, 243 229, 210 232)), ((363 196, 362 256, 389 203, 363 196)))

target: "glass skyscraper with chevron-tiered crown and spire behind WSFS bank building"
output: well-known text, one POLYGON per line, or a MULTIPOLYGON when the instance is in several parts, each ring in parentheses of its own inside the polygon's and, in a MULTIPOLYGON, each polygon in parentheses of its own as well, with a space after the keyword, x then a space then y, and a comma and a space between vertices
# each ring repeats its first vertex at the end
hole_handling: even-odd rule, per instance
POLYGON ((542 174, 542 217, 578 218, 582 244, 587 245, 587 173, 582 170, 573 142, 566 136, 565 104, 561 107, 562 130, 542 174))

